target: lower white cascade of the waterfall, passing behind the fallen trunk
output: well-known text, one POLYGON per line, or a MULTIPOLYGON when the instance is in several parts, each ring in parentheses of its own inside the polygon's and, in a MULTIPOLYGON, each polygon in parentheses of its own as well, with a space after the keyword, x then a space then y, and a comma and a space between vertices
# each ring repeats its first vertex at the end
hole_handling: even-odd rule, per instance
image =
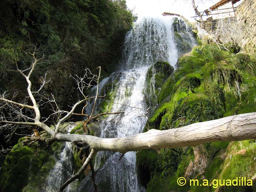
MULTIPOLYGON (((144 117, 138 117, 145 114, 145 111, 137 108, 145 108, 143 102, 142 90, 145 83, 145 74, 147 67, 127 70, 119 73, 119 82, 117 83, 117 96, 112 111, 124 111, 124 115, 109 116, 108 122, 102 123, 101 137, 124 137, 126 135, 134 135, 140 133, 146 123, 144 117), (127 96, 127 88, 130 88, 130 97, 127 96), (124 105, 135 106, 131 108, 124 105)), ((117 75, 117 74, 113 74, 117 75)), ((99 191, 138 191, 137 175, 135 172, 136 156, 135 152, 129 152, 122 157, 121 153, 98 152, 95 162, 96 183, 99 191), (100 169, 100 160, 106 159, 106 163, 100 169), (104 185, 104 186, 103 186, 104 185)), ((90 178, 87 177, 78 191, 93 191, 90 178)))

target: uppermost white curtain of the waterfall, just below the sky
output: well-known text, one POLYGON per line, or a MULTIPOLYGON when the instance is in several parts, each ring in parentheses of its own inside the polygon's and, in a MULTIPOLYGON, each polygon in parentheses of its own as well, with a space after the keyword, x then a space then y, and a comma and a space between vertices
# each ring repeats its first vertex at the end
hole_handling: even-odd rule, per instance
POLYGON ((150 66, 156 61, 175 65, 178 53, 174 43, 173 17, 141 18, 126 35, 124 69, 150 66))

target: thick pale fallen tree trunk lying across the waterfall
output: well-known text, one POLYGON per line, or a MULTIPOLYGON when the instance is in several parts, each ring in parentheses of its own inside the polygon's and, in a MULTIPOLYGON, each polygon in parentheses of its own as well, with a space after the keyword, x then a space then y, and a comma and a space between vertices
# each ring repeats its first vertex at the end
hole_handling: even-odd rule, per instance
POLYGON ((96 151, 138 151, 143 149, 180 148, 215 141, 256 139, 256 113, 246 113, 164 131, 122 138, 98 138, 91 135, 56 134, 56 140, 88 144, 96 151))

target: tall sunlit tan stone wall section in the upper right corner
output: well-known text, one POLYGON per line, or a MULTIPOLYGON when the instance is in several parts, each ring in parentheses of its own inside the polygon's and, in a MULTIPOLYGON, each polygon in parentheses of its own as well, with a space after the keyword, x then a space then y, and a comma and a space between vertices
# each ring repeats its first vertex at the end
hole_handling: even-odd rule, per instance
POLYGON ((244 0, 236 11, 237 26, 242 29, 241 45, 250 54, 256 54, 256 0, 244 0))

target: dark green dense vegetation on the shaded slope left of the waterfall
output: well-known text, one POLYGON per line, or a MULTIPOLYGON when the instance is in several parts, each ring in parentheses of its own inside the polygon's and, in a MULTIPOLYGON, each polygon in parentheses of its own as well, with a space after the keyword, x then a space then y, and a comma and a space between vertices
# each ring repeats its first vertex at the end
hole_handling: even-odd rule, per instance
MULTIPOLYGON (((96 72, 98 66, 103 76, 113 71, 135 19, 125 0, 2 0, 0 18, 0 94, 7 90, 12 97, 26 89, 24 78, 10 70, 28 68, 35 51, 37 59, 44 58, 33 73, 34 89, 45 73, 51 80, 37 97, 52 93, 64 110, 78 100, 70 74, 82 76, 83 69, 96 72)), ((51 113, 46 109, 43 116, 51 113)))

